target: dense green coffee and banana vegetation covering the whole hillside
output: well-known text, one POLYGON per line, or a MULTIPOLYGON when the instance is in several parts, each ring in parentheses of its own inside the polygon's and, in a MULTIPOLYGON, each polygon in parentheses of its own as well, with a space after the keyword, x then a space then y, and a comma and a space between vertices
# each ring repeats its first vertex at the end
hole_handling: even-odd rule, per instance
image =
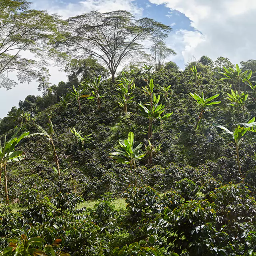
MULTIPOLYGON (((145 24, 132 32, 170 30, 145 24)), ((67 35, 54 33, 42 36, 60 58, 67 35)), ((0 120, 1 255, 256 255, 256 61, 202 56, 182 71, 165 47, 118 74, 92 56, 68 60, 58 85, 38 71, 43 95, 0 120)))

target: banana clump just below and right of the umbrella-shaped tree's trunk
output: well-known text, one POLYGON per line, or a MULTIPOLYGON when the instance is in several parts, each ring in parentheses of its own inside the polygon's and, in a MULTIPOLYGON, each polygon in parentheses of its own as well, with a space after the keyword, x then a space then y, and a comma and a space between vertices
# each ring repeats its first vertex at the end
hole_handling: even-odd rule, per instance
POLYGON ((132 96, 132 89, 135 88, 135 84, 133 79, 128 79, 125 76, 118 80, 118 82, 118 97, 122 100, 118 104, 124 109, 124 112, 127 112, 127 104, 134 98, 132 96))

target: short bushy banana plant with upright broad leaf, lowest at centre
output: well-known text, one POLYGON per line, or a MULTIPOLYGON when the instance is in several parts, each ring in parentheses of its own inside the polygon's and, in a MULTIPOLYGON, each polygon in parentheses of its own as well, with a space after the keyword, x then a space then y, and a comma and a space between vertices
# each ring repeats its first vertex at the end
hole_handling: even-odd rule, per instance
POLYGON ((136 162, 144 158, 145 154, 140 152, 143 145, 141 142, 136 148, 134 148, 134 133, 129 132, 126 140, 119 140, 121 149, 115 148, 116 152, 110 153, 111 157, 116 159, 116 162, 122 164, 129 164, 130 168, 136 168, 136 162))

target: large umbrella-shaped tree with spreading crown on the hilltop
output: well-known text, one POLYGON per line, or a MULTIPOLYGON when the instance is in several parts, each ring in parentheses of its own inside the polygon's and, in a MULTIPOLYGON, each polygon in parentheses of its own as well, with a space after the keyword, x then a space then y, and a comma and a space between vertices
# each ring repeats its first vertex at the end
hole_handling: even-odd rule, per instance
POLYGON ((100 13, 92 11, 67 20, 64 39, 55 46, 76 58, 93 56, 106 64, 115 81, 118 66, 129 58, 144 54, 144 40, 166 38, 169 26, 150 18, 134 19, 127 11, 100 13))

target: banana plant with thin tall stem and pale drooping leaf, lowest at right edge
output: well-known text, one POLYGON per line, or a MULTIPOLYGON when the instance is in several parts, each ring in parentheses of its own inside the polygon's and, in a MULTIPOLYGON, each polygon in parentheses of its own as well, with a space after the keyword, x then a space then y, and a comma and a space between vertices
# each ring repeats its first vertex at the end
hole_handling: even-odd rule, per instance
POLYGON ((236 144, 237 166, 238 166, 238 170, 241 172, 241 166, 240 166, 240 160, 239 160, 239 145, 240 145, 240 142, 242 141, 242 137, 246 134, 247 131, 256 132, 255 117, 253 117, 247 123, 234 124, 234 132, 228 130, 228 128, 220 124, 213 124, 213 125, 222 129, 225 136, 234 140, 236 144))

